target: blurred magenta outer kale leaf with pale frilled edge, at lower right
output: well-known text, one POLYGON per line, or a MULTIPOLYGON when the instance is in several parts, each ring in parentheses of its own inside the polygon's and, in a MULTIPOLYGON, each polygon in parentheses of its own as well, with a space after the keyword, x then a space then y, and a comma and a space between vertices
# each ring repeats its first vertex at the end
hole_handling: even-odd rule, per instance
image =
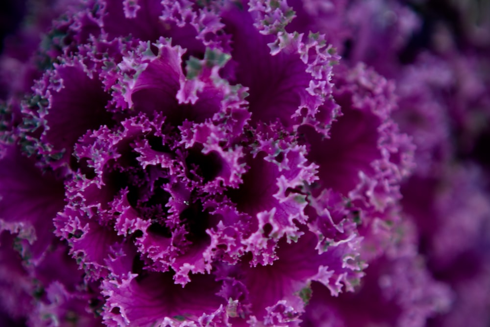
POLYGON ((355 292, 333 298, 314 283, 301 326, 424 327, 428 318, 447 313, 454 294, 431 277, 417 255, 413 230, 407 224, 399 226, 397 240, 370 262, 355 292))

